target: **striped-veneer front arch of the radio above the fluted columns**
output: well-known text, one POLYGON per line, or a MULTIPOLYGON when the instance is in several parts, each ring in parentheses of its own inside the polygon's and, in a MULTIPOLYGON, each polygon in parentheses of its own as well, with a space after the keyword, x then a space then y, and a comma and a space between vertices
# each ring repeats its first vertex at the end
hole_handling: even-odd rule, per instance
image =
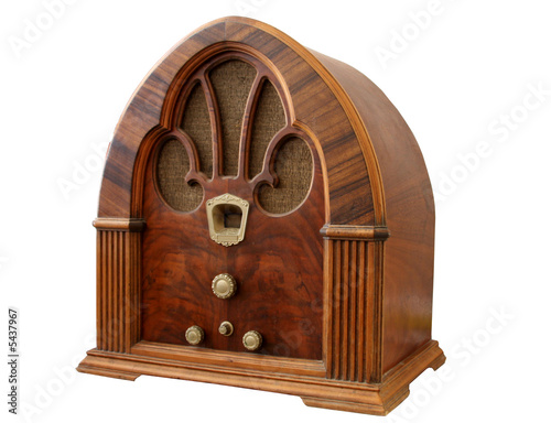
MULTIPOLYGON (((341 89, 331 87, 331 82, 324 80, 323 75, 318 74, 320 69, 315 68, 317 61, 313 54, 305 47, 300 47, 296 42, 289 41, 291 39, 276 29, 268 31, 268 26, 264 28, 253 20, 227 18, 204 25, 203 29, 204 33, 201 33, 201 29, 195 31, 158 62, 127 105, 117 126, 106 163, 98 215, 140 216, 141 198, 139 192, 134 189, 140 184, 136 182, 136 177, 141 166, 139 162, 143 159, 138 158, 143 152, 140 144, 151 131, 172 128, 173 117, 170 110, 173 110, 177 102, 186 78, 191 77, 201 66, 201 62, 210 57, 214 52, 229 48, 257 57, 272 72, 274 78, 271 80, 277 83, 274 85, 280 97, 289 106, 288 124, 292 122, 291 126, 299 126, 296 113, 300 113, 299 120, 315 130, 316 137, 312 137, 309 131, 306 133, 316 147, 323 167, 326 221, 353 225, 383 221, 383 217, 376 217, 380 215, 376 212, 380 207, 377 206, 377 199, 372 198, 378 195, 374 193, 370 180, 376 181, 378 176, 374 176, 372 165, 371 170, 366 165, 365 147, 361 145, 361 139, 366 137, 357 134, 358 129, 355 129, 354 124, 359 123, 349 121, 345 112, 346 107, 341 104, 343 95, 337 96, 334 93, 341 89), (294 51, 293 47, 299 51, 294 51), (310 58, 305 61, 304 57, 310 58), (306 118, 310 115, 303 116, 310 113, 311 109, 311 105, 307 104, 309 96, 305 94, 309 89, 314 89, 313 95, 318 101, 327 100, 314 109, 315 116, 311 120, 306 118), (300 109, 294 107, 293 101, 300 101, 298 104, 300 109), (320 119, 318 124, 316 119, 320 119), (329 119, 331 123, 325 121, 326 119, 329 119), (321 123, 323 121, 325 123, 321 123), (341 122, 344 126, 343 131, 332 129, 341 122), (336 151, 344 153, 342 160, 338 159, 339 154, 335 155, 336 151), (350 185, 356 195, 347 193, 343 186, 346 173, 353 178, 357 175, 350 185), (345 204, 350 202, 356 203, 356 206, 346 207, 345 204)), ((321 66, 317 64, 318 68, 321 66)), ((325 78, 328 76, 325 75, 325 78)), ((206 90, 205 85, 202 85, 206 90)), ((208 100, 208 95, 206 97, 208 100)), ((209 107, 209 110, 213 111, 213 107, 209 107)), ((213 155, 213 162, 215 159, 216 154, 213 155)), ((375 156, 372 159, 375 160, 375 156)), ((215 173, 217 167, 215 165, 213 167, 215 173)))

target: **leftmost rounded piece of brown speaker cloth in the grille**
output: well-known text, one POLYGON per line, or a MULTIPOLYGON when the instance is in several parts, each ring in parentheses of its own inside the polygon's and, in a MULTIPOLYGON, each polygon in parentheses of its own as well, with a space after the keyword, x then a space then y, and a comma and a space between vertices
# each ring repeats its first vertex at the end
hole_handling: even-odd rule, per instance
POLYGON ((188 171, 190 158, 185 148, 180 141, 166 141, 159 152, 156 180, 164 200, 180 212, 191 212, 203 200, 201 185, 185 182, 188 171))

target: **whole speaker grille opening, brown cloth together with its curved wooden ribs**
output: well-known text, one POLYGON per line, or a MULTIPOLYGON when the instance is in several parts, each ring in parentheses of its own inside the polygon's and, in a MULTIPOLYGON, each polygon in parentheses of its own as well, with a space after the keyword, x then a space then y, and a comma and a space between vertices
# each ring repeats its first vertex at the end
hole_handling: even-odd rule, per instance
POLYGON ((175 128, 158 153, 164 200, 192 212, 204 192, 217 194, 209 184, 231 178, 267 214, 300 207, 313 180, 312 141, 292 126, 284 89, 269 68, 234 52, 212 57, 186 79, 173 111, 175 128))

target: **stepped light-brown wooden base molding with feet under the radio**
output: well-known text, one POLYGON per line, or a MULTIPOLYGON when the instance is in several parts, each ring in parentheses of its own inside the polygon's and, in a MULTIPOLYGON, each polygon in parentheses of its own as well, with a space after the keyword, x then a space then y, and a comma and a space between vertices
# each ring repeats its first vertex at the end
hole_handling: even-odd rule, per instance
MULTIPOLYGON (((150 352, 154 346, 148 345, 150 352)), ((160 350, 163 346, 160 346, 160 350)), ((169 347, 169 349, 171 349, 169 347)), ((182 347, 182 350, 192 349, 182 347)), ((83 373, 106 376, 110 378, 136 380, 141 375, 159 376, 192 380, 198 382, 219 383, 239 388, 260 389, 264 391, 299 395, 309 406, 350 411, 356 413, 386 415, 400 404, 409 394, 409 384, 425 369, 436 370, 445 361, 445 356, 439 344, 431 340, 413 352, 408 359, 397 365, 386 373, 381 383, 349 382, 326 379, 324 376, 311 376, 322 362, 311 366, 311 375, 298 375, 291 366, 301 366, 309 360, 281 359, 281 368, 276 369, 278 359, 247 354, 235 354, 242 364, 251 362, 253 368, 234 366, 234 357, 225 354, 216 357, 202 358, 202 354, 192 354, 183 361, 166 358, 166 354, 142 356, 136 354, 119 354, 91 349, 80 362, 77 370, 83 373), (230 366, 224 366, 227 361, 230 366), (263 370, 262 370, 263 368, 263 370)))

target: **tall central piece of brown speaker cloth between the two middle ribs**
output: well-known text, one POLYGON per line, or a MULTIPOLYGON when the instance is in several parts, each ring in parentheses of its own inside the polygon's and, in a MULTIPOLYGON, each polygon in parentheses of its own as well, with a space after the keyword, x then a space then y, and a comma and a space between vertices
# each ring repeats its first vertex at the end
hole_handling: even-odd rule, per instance
POLYGON ((238 171, 239 139, 245 106, 257 70, 241 61, 227 61, 209 74, 222 119, 223 174, 236 176, 238 171))

